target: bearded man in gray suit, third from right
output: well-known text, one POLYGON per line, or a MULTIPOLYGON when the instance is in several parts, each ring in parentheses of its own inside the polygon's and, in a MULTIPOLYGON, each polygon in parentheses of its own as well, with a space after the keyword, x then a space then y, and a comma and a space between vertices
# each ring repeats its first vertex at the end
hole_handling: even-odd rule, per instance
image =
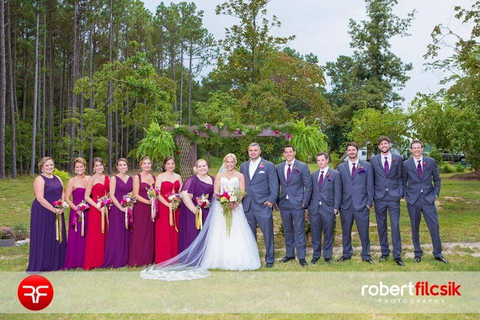
POLYGON ((338 165, 341 174, 340 222, 343 254, 339 262, 351 259, 351 227, 355 221, 361 242, 361 259, 374 263, 370 256, 368 235, 370 208, 373 203, 373 170, 368 162, 358 159, 358 144, 346 144, 348 160, 338 165))

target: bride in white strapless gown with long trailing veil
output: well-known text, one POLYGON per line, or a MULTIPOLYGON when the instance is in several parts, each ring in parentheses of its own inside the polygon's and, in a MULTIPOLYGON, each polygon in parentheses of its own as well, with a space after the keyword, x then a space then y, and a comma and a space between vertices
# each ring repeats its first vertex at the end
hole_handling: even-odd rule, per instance
MULTIPOLYGON (((245 178, 235 170, 236 162, 235 154, 225 155, 213 184, 215 193, 233 187, 245 190, 245 178)), ((229 235, 222 207, 214 199, 205 224, 195 240, 177 256, 143 269, 140 276, 144 279, 175 281, 204 278, 210 275, 208 269, 214 268, 238 271, 258 269, 258 247, 243 212, 241 199, 232 203, 231 208, 229 235)))

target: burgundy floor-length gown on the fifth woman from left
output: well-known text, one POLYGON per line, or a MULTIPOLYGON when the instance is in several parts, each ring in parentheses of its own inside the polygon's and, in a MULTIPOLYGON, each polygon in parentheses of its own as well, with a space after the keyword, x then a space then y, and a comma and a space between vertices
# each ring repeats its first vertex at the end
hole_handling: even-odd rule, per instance
MULTIPOLYGON (((151 185, 141 181, 140 173, 138 178, 140 181, 138 195, 148 199, 146 188, 155 185, 155 176, 153 175, 151 185)), ((129 265, 146 265, 153 262, 154 235, 155 223, 151 220, 150 205, 137 200, 133 205, 133 232, 130 234, 128 248, 129 265)))

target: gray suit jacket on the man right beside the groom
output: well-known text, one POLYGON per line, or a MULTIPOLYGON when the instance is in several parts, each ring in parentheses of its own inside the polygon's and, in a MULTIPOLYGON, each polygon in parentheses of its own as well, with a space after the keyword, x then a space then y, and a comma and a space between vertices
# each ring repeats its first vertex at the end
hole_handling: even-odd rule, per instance
POLYGON ((276 173, 280 180, 280 196, 278 197, 278 207, 285 206, 284 202, 288 195, 290 204, 295 208, 301 208, 302 204, 308 206, 311 196, 311 178, 310 169, 306 163, 295 159, 291 169, 290 179, 285 178, 285 165, 283 161, 276 166, 276 173))

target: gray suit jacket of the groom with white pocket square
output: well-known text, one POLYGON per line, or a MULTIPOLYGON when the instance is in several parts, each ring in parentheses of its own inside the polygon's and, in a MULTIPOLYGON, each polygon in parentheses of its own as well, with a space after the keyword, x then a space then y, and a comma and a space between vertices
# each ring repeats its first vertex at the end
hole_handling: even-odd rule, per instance
POLYGON ((265 201, 275 203, 278 197, 278 178, 276 177, 275 165, 270 161, 260 158, 253 177, 250 177, 250 160, 240 165, 240 172, 245 176, 246 196, 242 200, 243 210, 248 211, 250 207, 254 210, 261 210, 267 205, 265 201), (263 168, 260 168, 263 166, 263 168))

